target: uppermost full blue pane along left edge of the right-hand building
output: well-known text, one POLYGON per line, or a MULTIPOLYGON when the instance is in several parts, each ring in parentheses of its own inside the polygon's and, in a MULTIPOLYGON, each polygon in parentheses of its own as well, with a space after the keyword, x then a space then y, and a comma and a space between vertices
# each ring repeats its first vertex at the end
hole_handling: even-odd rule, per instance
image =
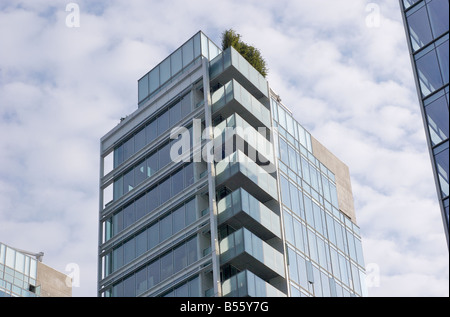
POLYGON ((411 37, 411 44, 414 50, 417 50, 433 39, 431 35, 431 28, 428 22, 428 15, 425 6, 414 12, 408 17, 409 34, 411 37))

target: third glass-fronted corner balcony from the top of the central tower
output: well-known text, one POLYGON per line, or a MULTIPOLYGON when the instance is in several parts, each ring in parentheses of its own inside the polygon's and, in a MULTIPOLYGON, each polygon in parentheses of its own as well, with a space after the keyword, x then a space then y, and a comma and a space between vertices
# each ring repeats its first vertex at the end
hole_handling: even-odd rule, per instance
MULTIPOLYGON (((265 130, 261 132, 265 133, 265 130)), ((251 147, 247 149, 246 154, 252 160, 264 165, 274 162, 272 143, 237 113, 214 127, 214 144, 215 146, 225 145, 225 156, 232 154, 236 149, 244 151, 243 141, 251 147)))

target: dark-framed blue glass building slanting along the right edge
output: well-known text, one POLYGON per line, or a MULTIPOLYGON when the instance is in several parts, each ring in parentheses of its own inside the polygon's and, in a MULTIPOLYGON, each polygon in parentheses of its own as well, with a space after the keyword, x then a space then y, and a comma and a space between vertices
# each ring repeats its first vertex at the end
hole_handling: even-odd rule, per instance
POLYGON ((444 230, 449 243, 449 4, 400 0, 444 230))

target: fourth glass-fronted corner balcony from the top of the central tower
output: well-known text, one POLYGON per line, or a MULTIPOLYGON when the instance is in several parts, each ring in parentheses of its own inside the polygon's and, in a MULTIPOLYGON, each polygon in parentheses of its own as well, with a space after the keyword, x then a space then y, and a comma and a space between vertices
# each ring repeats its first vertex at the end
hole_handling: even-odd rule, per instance
POLYGON ((278 200, 275 178, 239 150, 216 164, 216 186, 242 187, 262 203, 278 200))

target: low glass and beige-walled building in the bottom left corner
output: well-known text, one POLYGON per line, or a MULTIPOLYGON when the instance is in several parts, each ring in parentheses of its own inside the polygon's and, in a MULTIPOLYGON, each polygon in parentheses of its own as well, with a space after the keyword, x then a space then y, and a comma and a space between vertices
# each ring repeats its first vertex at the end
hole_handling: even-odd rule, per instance
POLYGON ((72 280, 32 254, 0 243, 0 297, 71 297, 72 280))

